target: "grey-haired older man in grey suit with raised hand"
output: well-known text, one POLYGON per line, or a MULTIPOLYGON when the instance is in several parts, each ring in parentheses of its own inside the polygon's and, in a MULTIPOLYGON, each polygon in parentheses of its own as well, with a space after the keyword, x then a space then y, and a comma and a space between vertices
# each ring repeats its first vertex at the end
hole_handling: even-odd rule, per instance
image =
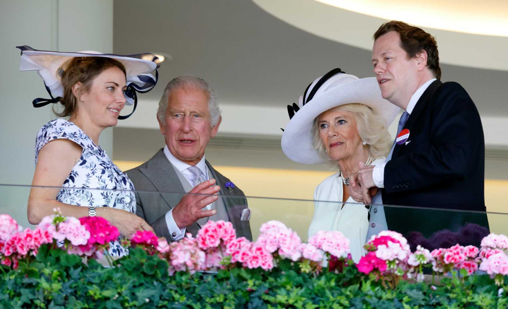
POLYGON ((136 193, 136 214, 168 241, 196 235, 208 220, 229 221, 238 237, 252 240, 245 195, 238 187, 226 188, 230 180, 205 160, 221 121, 210 85, 194 76, 174 78, 164 89, 157 120, 166 146, 126 174, 136 190, 161 193, 136 193))

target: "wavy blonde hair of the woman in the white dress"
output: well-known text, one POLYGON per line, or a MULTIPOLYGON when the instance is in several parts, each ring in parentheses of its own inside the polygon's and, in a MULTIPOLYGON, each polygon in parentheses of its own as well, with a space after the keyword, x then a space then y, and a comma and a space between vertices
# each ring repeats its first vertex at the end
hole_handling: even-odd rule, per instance
MULTIPOLYGON (((358 135, 360 135, 362 141, 367 143, 369 152, 374 159, 385 157, 388 154, 391 148, 391 137, 386 127, 386 121, 381 115, 361 103, 344 104, 329 110, 348 111, 355 115, 358 135)), ((317 123, 319 117, 315 117, 312 122, 311 130, 314 149, 319 152, 323 159, 329 161, 332 166, 337 166, 337 163, 328 157, 325 145, 319 135, 319 123, 317 123)))

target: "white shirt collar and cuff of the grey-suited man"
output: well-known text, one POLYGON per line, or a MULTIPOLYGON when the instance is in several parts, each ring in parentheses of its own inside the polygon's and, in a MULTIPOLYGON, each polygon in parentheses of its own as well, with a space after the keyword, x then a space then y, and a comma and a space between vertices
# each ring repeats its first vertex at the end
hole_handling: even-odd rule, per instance
MULTIPOLYGON (((176 167, 177 170, 179 170, 183 176, 188 180, 188 182, 193 185, 194 175, 187 170, 192 165, 188 165, 187 163, 181 162, 180 160, 176 159, 173 154, 168 149, 168 146, 164 146, 164 154, 166 155, 166 158, 168 158, 169 162, 176 167)), ((203 155, 203 158, 201 159, 196 166, 201 170, 203 175, 205 175, 205 180, 209 180, 210 176, 208 175, 208 171, 206 168, 205 163, 205 156, 203 155)), ((207 205, 206 208, 210 210, 210 205, 207 205)), ((171 208, 168 212, 166 212, 166 224, 168 226, 169 234, 173 237, 174 240, 179 240, 185 236, 185 227, 182 229, 179 229, 176 225, 175 220, 173 219, 173 209, 171 208), (176 235, 176 236, 173 236, 176 235)))

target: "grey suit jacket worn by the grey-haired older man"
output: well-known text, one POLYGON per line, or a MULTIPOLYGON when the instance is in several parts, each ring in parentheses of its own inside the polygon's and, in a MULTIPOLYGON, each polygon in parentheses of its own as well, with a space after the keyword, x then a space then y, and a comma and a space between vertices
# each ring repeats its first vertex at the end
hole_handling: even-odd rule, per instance
MULTIPOLYGON (((229 191, 224 184, 230 181, 225 176, 217 172, 208 161, 206 165, 212 171, 212 176, 220 186, 220 195, 223 195, 223 202, 230 222, 236 230, 237 237, 244 236, 252 240, 249 221, 241 221, 240 216, 242 210, 247 208, 247 199, 243 192, 235 186, 233 191, 229 191)), ((172 241, 173 237, 169 234, 166 224, 166 212, 175 207, 185 195, 182 184, 164 154, 161 148, 155 156, 142 165, 125 172, 129 179, 134 183, 136 191, 136 214, 143 218, 155 231, 159 237, 166 237, 168 241, 172 241), (154 193, 161 192, 161 193, 154 193), (165 192, 165 193, 163 193, 165 192), (171 193, 168 193, 171 192, 171 193)), ((192 233, 196 236, 201 227, 198 223, 186 227, 186 233, 192 233)))

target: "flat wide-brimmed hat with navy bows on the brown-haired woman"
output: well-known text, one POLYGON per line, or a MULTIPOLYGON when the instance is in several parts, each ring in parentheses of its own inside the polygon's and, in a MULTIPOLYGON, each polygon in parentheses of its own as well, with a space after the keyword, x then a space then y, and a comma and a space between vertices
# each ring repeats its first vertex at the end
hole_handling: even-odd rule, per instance
MULTIPOLYGON (((19 71, 37 71, 44 80, 44 85, 51 99, 37 98, 33 101, 34 107, 42 107, 50 103, 57 103, 63 96, 61 77, 70 60, 74 57, 107 57, 118 60, 125 67, 126 84, 125 100, 127 105, 137 105, 137 92, 150 91, 158 80, 157 68, 160 60, 151 53, 134 55, 103 54, 97 51, 60 52, 37 50, 29 46, 17 46, 21 49, 21 62, 19 71), (150 72, 155 70, 155 78, 150 72)), ((133 110, 133 113, 134 113, 133 110)), ((130 114, 132 115, 132 113, 130 114)), ((128 116, 118 116, 125 119, 128 116)))

